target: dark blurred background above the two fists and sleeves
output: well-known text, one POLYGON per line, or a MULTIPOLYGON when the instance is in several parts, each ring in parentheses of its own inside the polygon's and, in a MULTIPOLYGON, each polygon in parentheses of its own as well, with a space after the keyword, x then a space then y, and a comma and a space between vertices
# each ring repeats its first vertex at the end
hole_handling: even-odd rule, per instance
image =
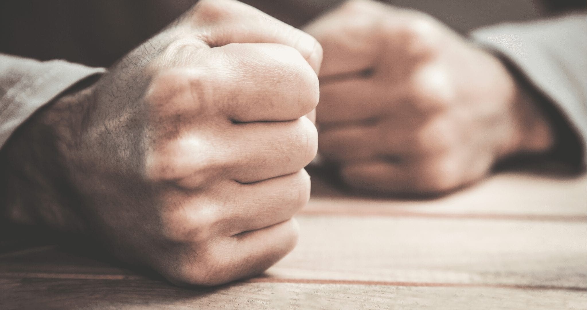
MULTIPOLYGON (((110 66, 197 0, 2 0, 0 52, 110 66)), ((244 0, 294 26, 340 0, 244 0)), ((524 21, 585 8, 576 0, 392 0, 436 16, 461 33, 501 21, 524 21)))

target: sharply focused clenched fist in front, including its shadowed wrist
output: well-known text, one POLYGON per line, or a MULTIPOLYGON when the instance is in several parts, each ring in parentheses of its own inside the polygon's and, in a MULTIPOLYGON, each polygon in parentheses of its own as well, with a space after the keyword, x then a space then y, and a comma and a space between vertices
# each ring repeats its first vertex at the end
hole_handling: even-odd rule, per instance
POLYGON ((309 199, 321 60, 306 33, 202 0, 23 126, 4 150, 9 216, 87 233, 176 284, 262 272, 309 199))

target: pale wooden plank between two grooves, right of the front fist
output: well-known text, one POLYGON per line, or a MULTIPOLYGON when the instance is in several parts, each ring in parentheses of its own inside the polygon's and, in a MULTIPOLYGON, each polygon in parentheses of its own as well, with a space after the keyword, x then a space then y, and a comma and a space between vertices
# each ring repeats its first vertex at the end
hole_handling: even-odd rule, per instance
POLYGON ((585 288, 585 223, 300 217, 276 278, 585 288))

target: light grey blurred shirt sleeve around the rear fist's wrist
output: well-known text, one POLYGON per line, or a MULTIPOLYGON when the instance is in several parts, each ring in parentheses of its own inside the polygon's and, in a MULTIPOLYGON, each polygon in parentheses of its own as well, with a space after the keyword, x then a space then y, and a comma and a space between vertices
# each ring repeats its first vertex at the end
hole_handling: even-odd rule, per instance
MULTIPOLYGON (((585 165, 587 130, 586 16, 569 14, 542 21, 503 23, 470 33, 475 42, 495 50, 545 97, 559 113, 585 165)), ((562 137, 563 140, 568 137, 562 137)), ((569 140, 570 141, 570 140, 569 140)), ((573 147, 571 147, 573 149, 573 147)))

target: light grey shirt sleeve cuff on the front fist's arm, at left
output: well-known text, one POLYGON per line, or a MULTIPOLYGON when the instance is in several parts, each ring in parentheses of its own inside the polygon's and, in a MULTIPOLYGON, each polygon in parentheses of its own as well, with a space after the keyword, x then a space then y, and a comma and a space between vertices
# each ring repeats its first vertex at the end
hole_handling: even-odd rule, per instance
POLYGON ((0 148, 39 107, 80 80, 105 71, 65 60, 40 62, 0 53, 0 148))

